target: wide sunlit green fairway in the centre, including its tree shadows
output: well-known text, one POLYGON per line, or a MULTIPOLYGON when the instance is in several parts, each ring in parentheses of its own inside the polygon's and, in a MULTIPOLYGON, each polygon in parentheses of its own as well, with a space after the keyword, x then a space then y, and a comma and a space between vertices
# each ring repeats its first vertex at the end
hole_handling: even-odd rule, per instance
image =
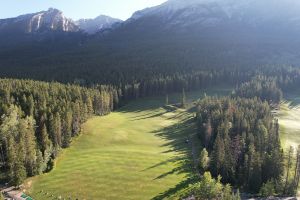
POLYGON ((194 180, 191 150, 199 145, 185 142, 196 131, 193 113, 163 105, 164 98, 143 99, 90 119, 54 170, 26 181, 28 194, 43 200, 175 198, 194 180))

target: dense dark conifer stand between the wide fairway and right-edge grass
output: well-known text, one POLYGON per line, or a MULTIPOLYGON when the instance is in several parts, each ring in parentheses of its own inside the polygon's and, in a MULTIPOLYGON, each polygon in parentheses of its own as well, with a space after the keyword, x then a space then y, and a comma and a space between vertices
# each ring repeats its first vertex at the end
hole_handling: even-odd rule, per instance
POLYGON ((206 97, 198 104, 197 118, 214 177, 221 175, 224 183, 254 193, 263 183, 281 178, 283 154, 278 121, 273 120, 267 102, 206 97))

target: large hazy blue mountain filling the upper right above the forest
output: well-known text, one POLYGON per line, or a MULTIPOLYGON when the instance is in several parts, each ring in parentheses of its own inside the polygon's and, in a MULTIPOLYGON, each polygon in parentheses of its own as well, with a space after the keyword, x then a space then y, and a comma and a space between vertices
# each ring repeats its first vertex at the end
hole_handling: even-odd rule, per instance
POLYGON ((296 0, 169 0, 134 13, 101 44, 127 46, 115 53, 143 52, 132 62, 164 67, 297 64, 299 11, 296 0))

